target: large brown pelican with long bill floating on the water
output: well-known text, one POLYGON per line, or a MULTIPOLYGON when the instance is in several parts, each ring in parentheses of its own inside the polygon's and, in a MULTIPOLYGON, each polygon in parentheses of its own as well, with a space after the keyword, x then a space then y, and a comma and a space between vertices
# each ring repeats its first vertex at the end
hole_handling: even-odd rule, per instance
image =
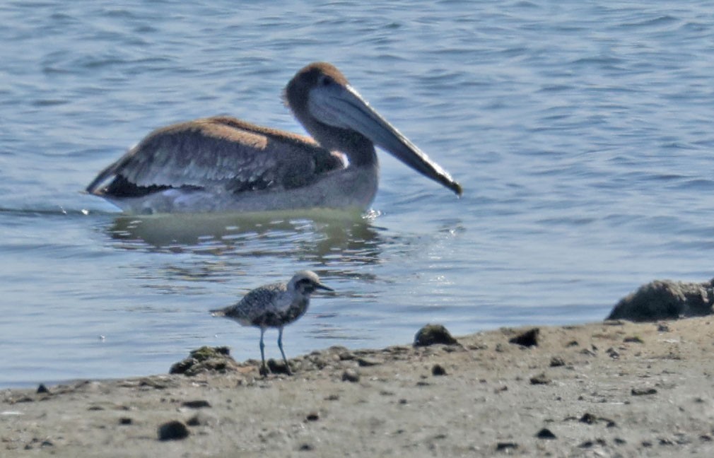
POLYGON ((284 98, 313 138, 228 116, 178 123, 149 133, 86 190, 129 213, 364 210, 377 191, 376 145, 461 195, 330 63, 298 71, 284 98))

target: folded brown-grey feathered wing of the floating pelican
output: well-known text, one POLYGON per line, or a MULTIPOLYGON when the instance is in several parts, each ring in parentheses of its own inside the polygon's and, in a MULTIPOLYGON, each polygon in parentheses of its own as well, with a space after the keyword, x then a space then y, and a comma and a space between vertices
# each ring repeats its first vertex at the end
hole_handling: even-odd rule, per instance
POLYGON ((334 167, 331 153, 311 138, 221 116, 152 132, 87 191, 96 193, 110 178, 115 186, 140 188, 296 188, 334 167))

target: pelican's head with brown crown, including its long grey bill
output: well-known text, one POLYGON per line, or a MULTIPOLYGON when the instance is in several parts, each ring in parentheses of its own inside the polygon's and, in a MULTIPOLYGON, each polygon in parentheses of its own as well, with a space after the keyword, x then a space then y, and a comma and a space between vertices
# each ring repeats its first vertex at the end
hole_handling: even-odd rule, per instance
POLYGON ((461 195, 461 185, 369 106, 331 63, 311 63, 298 71, 285 88, 285 100, 323 147, 340 150, 339 139, 348 137, 344 132, 359 133, 407 166, 461 195))

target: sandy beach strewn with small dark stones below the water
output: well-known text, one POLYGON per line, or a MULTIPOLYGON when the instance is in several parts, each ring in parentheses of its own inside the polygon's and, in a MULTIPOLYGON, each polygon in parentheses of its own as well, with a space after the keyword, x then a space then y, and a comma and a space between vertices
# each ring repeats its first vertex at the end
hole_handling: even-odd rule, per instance
POLYGON ((713 456, 710 317, 539 327, 535 342, 511 342, 531 329, 331 347, 291 360, 292 377, 248 361, 4 390, 0 454, 713 456))

